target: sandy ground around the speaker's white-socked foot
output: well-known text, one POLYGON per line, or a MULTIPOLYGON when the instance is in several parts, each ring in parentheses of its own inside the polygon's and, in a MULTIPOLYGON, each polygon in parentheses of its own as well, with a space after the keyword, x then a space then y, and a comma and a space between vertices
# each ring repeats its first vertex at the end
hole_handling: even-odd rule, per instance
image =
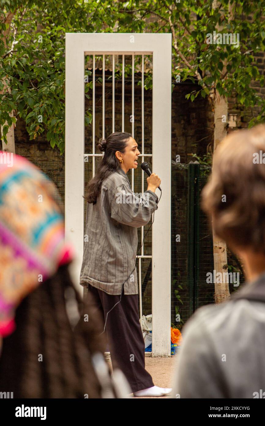
MULTIPOLYGON (((171 357, 148 357, 145 356, 145 368, 148 373, 151 374, 153 378, 153 382, 155 386, 159 386, 160 388, 172 388, 172 380, 174 376, 175 365, 177 362, 178 355, 172 355, 171 357)), ((111 363, 110 358, 106 359, 109 363, 111 363)), ((134 399, 141 398, 168 398, 168 396, 164 397, 134 397, 134 399)))

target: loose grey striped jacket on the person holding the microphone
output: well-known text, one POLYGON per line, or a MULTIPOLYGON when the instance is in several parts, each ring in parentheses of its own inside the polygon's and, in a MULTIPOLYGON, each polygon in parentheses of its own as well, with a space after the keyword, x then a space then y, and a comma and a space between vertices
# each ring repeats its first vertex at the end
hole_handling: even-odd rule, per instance
POLYGON ((87 204, 80 284, 108 294, 137 294, 137 227, 146 225, 157 210, 157 195, 137 196, 120 169, 103 181, 96 204, 87 204), (128 278, 129 277, 129 278, 128 278))

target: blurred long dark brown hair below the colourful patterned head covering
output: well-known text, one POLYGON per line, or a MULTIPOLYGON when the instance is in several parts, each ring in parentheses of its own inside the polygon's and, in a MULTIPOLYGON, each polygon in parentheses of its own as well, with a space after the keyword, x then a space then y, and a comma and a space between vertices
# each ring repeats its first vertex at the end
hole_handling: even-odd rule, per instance
POLYGON ((81 301, 68 265, 61 265, 23 299, 15 322, 17 329, 3 339, 1 391, 13 392, 14 398, 84 398, 85 394, 101 398, 91 354, 104 354, 103 319, 89 294, 81 301), (68 320, 65 291, 82 313, 74 330, 68 320))

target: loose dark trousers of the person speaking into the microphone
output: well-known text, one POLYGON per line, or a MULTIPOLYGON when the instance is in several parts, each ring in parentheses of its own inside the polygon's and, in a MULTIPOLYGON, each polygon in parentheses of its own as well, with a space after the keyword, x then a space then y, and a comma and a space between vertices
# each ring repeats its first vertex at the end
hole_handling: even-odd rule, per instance
MULTIPOLYGON (((88 284, 88 291, 103 314, 120 300, 88 284)), ((108 313, 105 327, 113 368, 120 368, 133 392, 154 386, 151 375, 145 370, 145 342, 139 321, 138 294, 123 294, 121 301, 108 313)))

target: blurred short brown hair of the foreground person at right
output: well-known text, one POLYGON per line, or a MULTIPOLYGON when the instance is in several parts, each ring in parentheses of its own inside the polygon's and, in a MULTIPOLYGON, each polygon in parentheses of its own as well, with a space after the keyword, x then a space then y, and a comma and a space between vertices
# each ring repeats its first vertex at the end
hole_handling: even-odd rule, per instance
POLYGON ((228 245, 265 253, 265 164, 254 161, 260 151, 265 162, 265 124, 224 138, 214 153, 201 206, 228 245))

